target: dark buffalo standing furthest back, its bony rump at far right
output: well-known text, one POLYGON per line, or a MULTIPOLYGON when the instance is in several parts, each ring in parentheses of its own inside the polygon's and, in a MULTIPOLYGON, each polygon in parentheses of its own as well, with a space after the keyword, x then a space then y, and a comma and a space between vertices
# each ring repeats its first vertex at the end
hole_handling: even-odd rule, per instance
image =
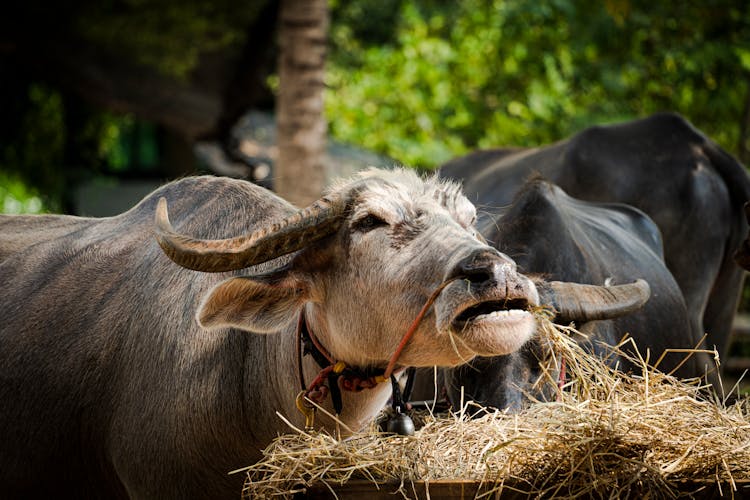
POLYGON ((646 212, 662 233, 692 335, 707 333, 708 345, 726 354, 744 277, 732 256, 747 234, 742 206, 750 199, 737 160, 679 115, 662 113, 548 146, 477 151, 441 168, 489 218, 535 172, 575 198, 646 212))

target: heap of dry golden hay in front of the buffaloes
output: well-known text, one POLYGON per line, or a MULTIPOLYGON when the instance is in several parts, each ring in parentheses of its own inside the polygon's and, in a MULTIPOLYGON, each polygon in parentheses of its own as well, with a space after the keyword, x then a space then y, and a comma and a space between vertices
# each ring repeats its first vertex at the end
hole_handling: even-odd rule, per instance
MULTIPOLYGON (((405 497, 413 496, 413 481, 476 480, 544 498, 673 498, 686 493, 683 481, 731 496, 736 481, 750 480, 744 401, 713 401, 699 380, 646 369, 637 352, 632 361, 643 373, 620 373, 587 354, 575 342, 580 333, 540 323, 567 364, 556 401, 475 419, 466 407, 428 416, 412 437, 385 435, 375 425, 345 440, 292 428, 244 470, 243 495, 291 497, 314 484, 335 491, 364 479, 405 497)), ((624 356, 626 346, 613 352, 624 356)), ((553 379, 547 383, 557 390, 553 379)))

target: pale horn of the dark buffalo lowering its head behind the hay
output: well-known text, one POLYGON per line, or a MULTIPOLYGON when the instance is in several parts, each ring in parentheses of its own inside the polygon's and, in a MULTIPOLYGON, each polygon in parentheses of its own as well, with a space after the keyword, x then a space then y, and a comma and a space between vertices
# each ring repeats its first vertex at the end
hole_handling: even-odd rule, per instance
POLYGON ((552 306, 562 321, 596 321, 630 314, 651 296, 646 281, 613 286, 550 281, 538 286, 539 301, 552 306))

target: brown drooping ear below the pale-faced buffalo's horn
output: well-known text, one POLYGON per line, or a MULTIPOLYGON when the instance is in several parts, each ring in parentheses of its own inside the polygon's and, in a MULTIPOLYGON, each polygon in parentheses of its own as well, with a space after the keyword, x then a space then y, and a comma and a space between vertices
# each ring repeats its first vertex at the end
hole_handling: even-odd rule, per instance
POLYGON ((304 283, 289 276, 230 278, 208 293, 196 318, 209 330, 232 327, 271 333, 286 325, 290 312, 302 307, 308 296, 304 283))

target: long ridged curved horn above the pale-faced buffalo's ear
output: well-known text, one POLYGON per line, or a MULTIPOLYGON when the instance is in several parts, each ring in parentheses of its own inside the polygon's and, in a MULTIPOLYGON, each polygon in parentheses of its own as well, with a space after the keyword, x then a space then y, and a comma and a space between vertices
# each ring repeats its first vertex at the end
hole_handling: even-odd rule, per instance
POLYGON ((318 241, 338 229, 348 208, 341 194, 324 196, 286 219, 243 236, 201 240, 177 233, 169 222, 167 201, 156 207, 156 241, 182 267, 217 273, 267 262, 318 241))

